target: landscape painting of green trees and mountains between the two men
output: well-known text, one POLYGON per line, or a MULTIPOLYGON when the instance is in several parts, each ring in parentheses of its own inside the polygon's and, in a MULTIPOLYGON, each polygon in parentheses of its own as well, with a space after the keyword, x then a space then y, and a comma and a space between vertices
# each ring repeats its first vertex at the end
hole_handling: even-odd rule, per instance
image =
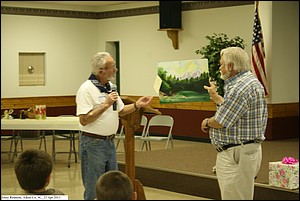
POLYGON ((204 85, 209 86, 208 60, 159 62, 160 103, 209 102, 204 85))

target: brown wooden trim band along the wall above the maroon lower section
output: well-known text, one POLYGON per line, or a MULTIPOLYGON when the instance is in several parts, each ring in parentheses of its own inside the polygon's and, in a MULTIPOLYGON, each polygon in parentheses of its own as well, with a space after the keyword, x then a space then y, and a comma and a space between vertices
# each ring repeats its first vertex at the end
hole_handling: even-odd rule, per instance
MULTIPOLYGON (((129 96, 137 100, 140 96, 129 96)), ((25 98, 1 98, 1 110, 24 109, 35 105, 46 105, 47 107, 76 106, 75 96, 45 96, 45 97, 25 97, 25 98)), ((153 97, 150 104, 156 109, 181 109, 181 110, 202 110, 216 111, 213 102, 186 102, 161 104, 159 97, 153 97)), ((299 103, 279 103, 268 104, 269 118, 299 117, 299 103)))

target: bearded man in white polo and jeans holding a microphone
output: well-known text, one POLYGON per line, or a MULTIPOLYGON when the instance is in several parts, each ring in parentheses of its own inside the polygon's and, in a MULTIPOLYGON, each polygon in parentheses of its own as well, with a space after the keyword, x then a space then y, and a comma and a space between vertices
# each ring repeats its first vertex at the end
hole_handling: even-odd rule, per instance
POLYGON ((113 139, 119 127, 119 115, 130 114, 152 100, 151 96, 143 96, 133 104, 124 105, 110 81, 117 70, 109 53, 96 53, 92 58, 92 73, 76 95, 76 113, 82 131, 80 157, 85 200, 96 198, 100 175, 118 169, 113 139))

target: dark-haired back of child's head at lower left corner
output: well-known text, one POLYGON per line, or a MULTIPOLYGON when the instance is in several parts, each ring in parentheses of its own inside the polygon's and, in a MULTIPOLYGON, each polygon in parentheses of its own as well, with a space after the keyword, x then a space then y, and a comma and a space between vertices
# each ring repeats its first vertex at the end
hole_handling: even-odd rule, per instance
POLYGON ((14 168, 21 188, 32 192, 48 184, 53 163, 47 152, 28 149, 19 155, 14 168))

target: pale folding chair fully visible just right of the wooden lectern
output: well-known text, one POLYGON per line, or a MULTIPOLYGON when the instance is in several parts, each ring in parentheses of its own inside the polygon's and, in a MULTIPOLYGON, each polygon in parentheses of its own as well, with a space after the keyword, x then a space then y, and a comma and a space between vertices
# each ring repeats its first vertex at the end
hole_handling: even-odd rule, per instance
POLYGON ((170 115, 155 115, 153 116, 148 123, 145 134, 140 138, 140 151, 143 150, 144 145, 149 145, 149 150, 151 151, 151 141, 167 141, 165 148, 168 148, 169 142, 171 142, 171 146, 173 148, 172 141, 172 129, 174 125, 174 119, 170 115), (155 127, 165 127, 168 128, 168 134, 156 134, 151 133, 152 129, 155 127))

